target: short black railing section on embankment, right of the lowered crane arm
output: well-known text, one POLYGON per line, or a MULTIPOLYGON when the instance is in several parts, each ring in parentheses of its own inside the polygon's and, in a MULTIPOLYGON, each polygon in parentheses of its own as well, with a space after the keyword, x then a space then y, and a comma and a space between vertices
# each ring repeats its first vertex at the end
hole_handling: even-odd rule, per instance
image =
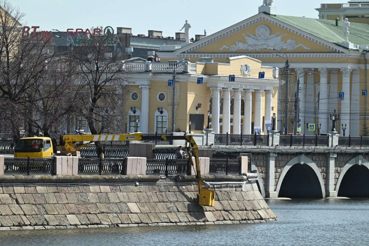
POLYGON ((209 174, 240 174, 241 163, 238 160, 210 159, 209 174))

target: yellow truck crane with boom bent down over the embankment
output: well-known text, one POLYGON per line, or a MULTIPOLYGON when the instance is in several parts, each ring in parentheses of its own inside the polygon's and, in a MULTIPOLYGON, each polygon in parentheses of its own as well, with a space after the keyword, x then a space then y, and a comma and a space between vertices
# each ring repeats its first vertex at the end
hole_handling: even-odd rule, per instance
POLYGON ((54 155, 77 155, 78 149, 97 141, 143 141, 143 140, 185 140, 188 144, 188 156, 190 163, 196 167, 196 181, 199 187, 199 205, 213 206, 215 191, 202 188, 199 148, 191 135, 183 136, 144 136, 142 133, 135 134, 106 134, 106 135, 62 135, 59 145, 47 137, 21 138, 14 149, 14 157, 45 158, 54 155), (77 142, 87 142, 75 146, 77 142), (193 163, 192 156, 195 159, 193 163))

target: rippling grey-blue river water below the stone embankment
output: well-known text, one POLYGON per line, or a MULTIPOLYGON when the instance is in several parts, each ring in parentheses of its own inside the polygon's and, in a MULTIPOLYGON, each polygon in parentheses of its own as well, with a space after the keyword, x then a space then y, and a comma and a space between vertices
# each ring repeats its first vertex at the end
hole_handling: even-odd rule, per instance
POLYGON ((1 231, 0 245, 369 245, 369 199, 267 200, 276 222, 1 231))

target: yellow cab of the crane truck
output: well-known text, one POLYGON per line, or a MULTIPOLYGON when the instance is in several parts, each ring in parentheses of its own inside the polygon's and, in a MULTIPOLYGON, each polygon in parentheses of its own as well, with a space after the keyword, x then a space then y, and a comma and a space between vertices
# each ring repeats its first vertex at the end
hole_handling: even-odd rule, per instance
POLYGON ((14 157, 45 158, 54 155, 51 138, 22 138, 15 145, 14 157))

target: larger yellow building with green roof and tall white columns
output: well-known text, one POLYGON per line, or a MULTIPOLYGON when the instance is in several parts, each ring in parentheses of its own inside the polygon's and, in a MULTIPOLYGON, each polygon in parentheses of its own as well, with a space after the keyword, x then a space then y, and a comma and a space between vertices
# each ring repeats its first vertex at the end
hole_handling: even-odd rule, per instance
MULTIPOLYGON (((340 118, 334 130, 342 134, 343 124, 346 125, 346 135, 359 136, 367 117, 366 96, 362 95, 367 88, 366 51, 369 50, 369 25, 348 23, 350 19, 334 21, 278 15, 277 6, 269 5, 263 4, 259 7, 259 14, 199 41, 172 51, 157 53, 162 61, 191 59, 191 62, 199 62, 201 58, 209 57, 215 63, 246 55, 262 61, 263 66, 268 67, 283 67, 288 59, 290 71, 295 74, 294 81, 290 83, 296 85, 297 78, 300 80, 300 133, 317 134, 317 129, 307 129, 307 124, 315 122, 320 133, 330 132, 333 127, 331 115, 336 110, 340 118)), ((251 66, 251 69, 254 67, 251 66)), ((242 70, 238 67, 233 73, 237 84, 237 76, 242 75, 242 70)), ((208 94, 204 94, 204 98, 213 97, 214 103, 214 98, 217 98, 217 93, 214 95, 215 87, 208 87, 210 90, 208 94)), ((221 95, 224 94, 223 98, 228 98, 228 93, 236 93, 238 90, 230 84, 217 88, 221 95)), ((296 87, 294 88, 297 92, 296 87)), ((261 91, 263 98, 266 97, 267 90, 261 91)), ((247 90, 244 91, 246 92, 247 90)), ((296 94, 289 98, 290 103, 296 101, 296 94)), ((254 103, 258 97, 258 91, 254 90, 251 101, 254 103)), ((276 98, 274 94, 273 98, 276 98)), ((259 106, 251 105, 251 108, 255 107, 259 106)), ((291 120, 294 118, 295 108, 293 105, 289 111, 288 133, 293 133, 294 124, 291 120)), ((215 108, 212 114, 218 114, 214 110, 215 108)), ((281 118, 280 111, 278 118, 281 118)), ((255 120, 253 121, 255 125, 255 120)), ((279 122, 279 130, 282 130, 283 123, 279 122)), ((245 126, 245 122, 243 124, 245 126)))

